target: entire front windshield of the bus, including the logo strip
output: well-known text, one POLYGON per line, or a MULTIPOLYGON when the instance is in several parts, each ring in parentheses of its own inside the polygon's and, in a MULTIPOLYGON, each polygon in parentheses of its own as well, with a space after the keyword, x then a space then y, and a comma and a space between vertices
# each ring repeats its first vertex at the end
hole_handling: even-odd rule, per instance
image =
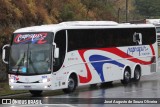
MULTIPOLYGON (((9 73, 20 75, 38 75, 51 72, 52 34, 50 37, 37 37, 33 34, 15 34, 10 51, 9 73), (26 36, 27 35, 27 36, 26 36), (29 35, 32 35, 32 37, 29 35), (36 38, 36 39, 35 39, 36 38), (49 39, 50 38, 50 39, 49 39), (48 39, 48 40, 47 40, 48 39)), ((41 35, 42 36, 42 35, 41 35)))

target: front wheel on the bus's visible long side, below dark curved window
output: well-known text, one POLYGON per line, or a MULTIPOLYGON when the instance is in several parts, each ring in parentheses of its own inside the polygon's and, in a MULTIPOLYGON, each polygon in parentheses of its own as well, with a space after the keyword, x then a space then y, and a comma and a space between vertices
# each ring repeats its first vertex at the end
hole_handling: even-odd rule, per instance
POLYGON ((74 75, 71 75, 68 79, 68 88, 63 89, 63 92, 66 94, 74 92, 77 87, 76 80, 77 80, 76 77, 74 75))

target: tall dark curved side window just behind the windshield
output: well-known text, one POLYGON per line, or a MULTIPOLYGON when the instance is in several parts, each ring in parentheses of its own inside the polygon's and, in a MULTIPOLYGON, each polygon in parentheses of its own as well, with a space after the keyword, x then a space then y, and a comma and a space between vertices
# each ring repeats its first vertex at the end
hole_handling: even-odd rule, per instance
POLYGON ((58 71, 65 58, 65 53, 66 53, 66 33, 65 30, 58 31, 55 35, 55 40, 54 42, 57 45, 57 48, 59 48, 59 58, 55 59, 55 62, 53 64, 53 70, 58 71))

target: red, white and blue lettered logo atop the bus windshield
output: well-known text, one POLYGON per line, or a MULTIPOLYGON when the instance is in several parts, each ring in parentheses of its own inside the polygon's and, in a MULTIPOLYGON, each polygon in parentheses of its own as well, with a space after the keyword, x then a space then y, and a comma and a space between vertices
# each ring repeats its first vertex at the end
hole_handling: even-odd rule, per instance
POLYGON ((47 33, 38 33, 38 34, 17 34, 14 38, 14 43, 32 43, 32 44, 44 44, 47 41, 45 38, 47 37, 47 33))

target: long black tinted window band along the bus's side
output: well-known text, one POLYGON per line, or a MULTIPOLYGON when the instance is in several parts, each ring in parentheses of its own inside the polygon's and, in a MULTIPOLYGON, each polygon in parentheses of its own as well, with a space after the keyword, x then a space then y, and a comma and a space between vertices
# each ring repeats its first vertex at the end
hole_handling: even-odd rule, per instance
POLYGON ((142 45, 156 41, 154 28, 68 30, 68 51, 104 47, 134 46, 134 33, 142 34, 142 45))

